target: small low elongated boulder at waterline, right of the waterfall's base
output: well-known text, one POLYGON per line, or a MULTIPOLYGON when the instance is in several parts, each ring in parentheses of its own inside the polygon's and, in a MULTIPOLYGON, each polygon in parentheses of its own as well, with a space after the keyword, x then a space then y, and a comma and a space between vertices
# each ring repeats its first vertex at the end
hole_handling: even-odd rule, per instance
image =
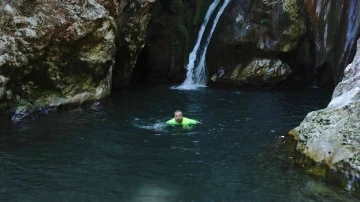
POLYGON ((291 74, 291 68, 278 59, 255 59, 235 69, 220 69, 211 78, 214 82, 237 85, 274 85, 291 74))

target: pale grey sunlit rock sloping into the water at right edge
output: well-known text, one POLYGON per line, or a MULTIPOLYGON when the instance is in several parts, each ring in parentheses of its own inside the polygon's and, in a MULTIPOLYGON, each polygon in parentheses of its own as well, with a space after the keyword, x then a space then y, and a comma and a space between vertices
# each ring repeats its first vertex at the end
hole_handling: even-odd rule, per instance
POLYGON ((336 176, 348 189, 359 191, 359 122, 360 40, 355 59, 346 67, 328 107, 310 112, 300 126, 289 132, 287 142, 295 141, 296 146, 291 149, 297 153, 295 160, 299 164, 308 170, 317 170, 315 174, 336 176), (314 169, 316 166, 322 169, 314 169))

